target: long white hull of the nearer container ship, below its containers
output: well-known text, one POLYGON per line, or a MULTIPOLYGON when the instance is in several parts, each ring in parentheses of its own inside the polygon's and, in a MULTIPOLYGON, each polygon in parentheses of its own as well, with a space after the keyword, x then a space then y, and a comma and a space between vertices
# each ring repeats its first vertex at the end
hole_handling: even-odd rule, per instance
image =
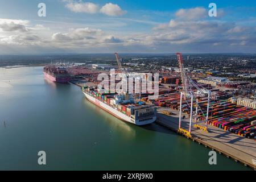
POLYGON ((85 93, 85 92, 83 92, 83 93, 85 94, 85 97, 87 98, 87 100, 89 100, 93 104, 97 105, 98 107, 101 107, 101 109, 104 109, 105 111, 114 115, 114 117, 121 119, 122 121, 133 123, 134 125, 148 125, 152 122, 155 122, 155 120, 156 120, 156 117, 152 117, 152 119, 148 119, 147 121, 143 121, 143 122, 134 120, 133 118, 129 117, 126 114, 121 113, 120 111, 114 109, 113 107, 109 106, 108 104, 105 104, 104 102, 98 100, 97 98, 90 96, 88 93, 85 93))

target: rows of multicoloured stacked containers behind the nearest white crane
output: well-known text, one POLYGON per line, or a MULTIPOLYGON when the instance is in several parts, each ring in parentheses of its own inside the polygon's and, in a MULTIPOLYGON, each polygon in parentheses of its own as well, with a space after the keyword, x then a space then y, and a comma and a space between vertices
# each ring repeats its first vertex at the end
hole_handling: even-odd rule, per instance
MULTIPOLYGON (((230 94, 222 91, 217 91, 217 96, 210 100, 209 107, 209 121, 208 123, 212 126, 219 127, 226 131, 236 133, 242 137, 255 139, 255 118, 256 109, 255 102, 249 102, 249 100, 243 101, 248 106, 241 106, 238 103, 242 103, 238 100, 238 103, 232 102, 232 98, 228 100, 221 100, 220 98, 228 98, 230 94), (237 105, 238 104, 238 105, 237 105)), ((156 100, 148 100, 147 96, 142 97, 142 101, 148 104, 155 104, 159 107, 169 107, 174 110, 179 110, 180 106, 180 93, 169 93, 160 96, 156 100)), ((190 101, 182 102, 182 113, 190 113, 190 101)), ((198 104, 201 108, 201 113, 196 115, 196 122, 203 121, 203 115, 207 114, 207 97, 198 99, 198 104)), ((196 104, 194 104, 196 106, 196 104)), ((193 112, 196 112, 194 107, 193 112)))

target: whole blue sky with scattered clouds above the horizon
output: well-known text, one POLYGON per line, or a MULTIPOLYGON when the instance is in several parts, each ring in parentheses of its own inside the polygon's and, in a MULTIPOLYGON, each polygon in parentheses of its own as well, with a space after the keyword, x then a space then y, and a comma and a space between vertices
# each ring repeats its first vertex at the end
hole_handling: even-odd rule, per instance
POLYGON ((256 1, 0 0, 1 55, 113 52, 256 53, 256 1))

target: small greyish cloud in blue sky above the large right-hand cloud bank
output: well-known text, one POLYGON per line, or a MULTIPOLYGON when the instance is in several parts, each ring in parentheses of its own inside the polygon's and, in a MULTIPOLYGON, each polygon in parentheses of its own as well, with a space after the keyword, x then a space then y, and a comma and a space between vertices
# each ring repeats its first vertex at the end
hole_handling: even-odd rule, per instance
POLYGON ((177 18, 186 20, 203 19, 207 17, 207 10, 202 7, 195 7, 192 9, 180 9, 175 14, 177 18))

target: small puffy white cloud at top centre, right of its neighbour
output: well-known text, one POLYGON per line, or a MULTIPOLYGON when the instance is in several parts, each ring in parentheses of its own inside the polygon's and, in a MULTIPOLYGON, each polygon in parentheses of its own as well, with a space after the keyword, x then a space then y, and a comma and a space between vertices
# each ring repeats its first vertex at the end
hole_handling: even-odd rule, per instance
POLYGON ((100 12, 109 16, 121 16, 127 13, 127 11, 122 10, 121 7, 112 3, 106 3, 106 5, 101 7, 100 12))

